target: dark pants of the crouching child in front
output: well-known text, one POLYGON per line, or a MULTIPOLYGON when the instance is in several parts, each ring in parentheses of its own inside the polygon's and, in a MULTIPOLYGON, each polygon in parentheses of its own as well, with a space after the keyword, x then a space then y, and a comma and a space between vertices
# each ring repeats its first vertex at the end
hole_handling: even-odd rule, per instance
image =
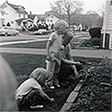
POLYGON ((28 110, 30 106, 42 104, 43 99, 39 95, 38 90, 33 89, 27 95, 23 96, 22 99, 17 99, 17 105, 19 110, 28 110))

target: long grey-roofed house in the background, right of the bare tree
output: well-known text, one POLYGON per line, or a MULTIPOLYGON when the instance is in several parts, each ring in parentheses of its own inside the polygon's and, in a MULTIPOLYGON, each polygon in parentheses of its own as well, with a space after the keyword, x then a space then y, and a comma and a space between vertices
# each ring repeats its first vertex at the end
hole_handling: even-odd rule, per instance
MULTIPOLYGON (((98 14, 76 14, 74 13, 71 16, 71 25, 76 25, 77 27, 81 26, 80 29, 87 30, 93 27, 102 27, 101 20, 98 14)), ((79 29, 79 28, 78 28, 79 29)))

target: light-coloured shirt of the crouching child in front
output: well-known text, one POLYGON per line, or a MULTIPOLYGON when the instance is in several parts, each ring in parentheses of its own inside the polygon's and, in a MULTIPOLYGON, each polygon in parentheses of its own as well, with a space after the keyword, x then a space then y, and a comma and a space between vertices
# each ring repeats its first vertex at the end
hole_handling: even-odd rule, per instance
POLYGON ((16 99, 22 99, 23 96, 28 94, 33 88, 42 90, 41 86, 34 78, 26 80, 16 90, 16 99))

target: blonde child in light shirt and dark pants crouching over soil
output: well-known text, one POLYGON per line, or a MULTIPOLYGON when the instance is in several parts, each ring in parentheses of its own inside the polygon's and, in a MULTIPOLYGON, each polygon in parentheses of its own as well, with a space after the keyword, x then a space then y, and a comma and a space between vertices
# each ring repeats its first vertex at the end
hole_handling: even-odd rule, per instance
POLYGON ((43 105, 44 102, 54 102, 54 98, 50 98, 42 90, 41 86, 44 86, 46 78, 46 70, 37 68, 31 73, 30 78, 17 88, 15 94, 19 110, 43 105))

